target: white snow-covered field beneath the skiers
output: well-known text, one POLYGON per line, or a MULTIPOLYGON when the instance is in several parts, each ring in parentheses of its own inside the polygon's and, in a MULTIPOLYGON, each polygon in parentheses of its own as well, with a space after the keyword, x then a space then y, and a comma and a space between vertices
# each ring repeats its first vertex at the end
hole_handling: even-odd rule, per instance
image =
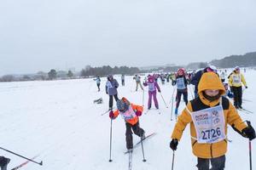
MULTIPOLYGON (((256 71, 244 73, 248 88, 244 91, 243 106, 254 111, 256 99, 256 71), (252 102, 253 101, 253 102, 252 102)), ((143 105, 143 91, 135 92, 132 77, 125 77, 125 87, 119 82, 119 98, 125 96, 131 102, 143 105)), ((0 83, 0 147, 13 150, 27 157, 38 156, 36 161, 44 161, 44 166, 32 162, 21 167, 26 170, 123 170, 128 169, 128 155, 125 149, 125 122, 121 117, 113 121, 113 162, 109 159, 110 119, 108 95, 105 94, 106 78, 102 78, 102 91, 97 92, 92 79, 52 81, 52 82, 8 82, 0 83), (102 97, 103 104, 93 104, 102 97)), ((140 117, 141 127, 146 133, 157 133, 144 143, 147 159, 143 162, 141 147, 133 152, 134 170, 165 170, 172 167, 170 136, 175 121, 171 119, 171 83, 161 85, 161 92, 169 108, 166 108, 158 94, 159 111, 148 111, 140 117)), ((192 85, 190 89, 192 89, 192 85)), ((189 92, 189 99, 191 94, 189 92)), ((144 105, 147 108, 148 92, 145 91, 144 105)), ((115 102, 114 102, 115 105, 115 102)), ((184 103, 181 102, 179 111, 184 103)), ((153 105, 154 108, 154 105, 153 105)), ((256 128, 254 114, 240 112, 244 120, 250 120, 256 128)), ((248 140, 242 138, 229 127, 229 150, 226 154, 226 169, 249 169, 248 140)), ((136 143, 139 138, 133 135, 136 143)), ((253 140, 253 167, 256 167, 256 140, 253 140)), ((24 160, 1 150, 0 155, 11 159, 9 168, 24 160)), ((174 169, 196 169, 196 157, 190 145, 189 127, 183 133, 175 156, 174 169)))

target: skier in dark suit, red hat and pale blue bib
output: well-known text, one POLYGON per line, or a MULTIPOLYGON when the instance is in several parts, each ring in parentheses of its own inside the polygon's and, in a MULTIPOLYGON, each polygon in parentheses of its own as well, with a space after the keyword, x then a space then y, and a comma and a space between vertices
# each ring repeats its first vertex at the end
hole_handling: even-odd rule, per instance
POLYGON ((177 70, 177 77, 173 84, 177 86, 177 94, 176 94, 176 108, 175 108, 175 115, 177 117, 177 110, 181 100, 181 96, 183 95, 183 100, 185 101, 186 105, 188 104, 188 81, 185 75, 185 69, 180 68, 177 70))

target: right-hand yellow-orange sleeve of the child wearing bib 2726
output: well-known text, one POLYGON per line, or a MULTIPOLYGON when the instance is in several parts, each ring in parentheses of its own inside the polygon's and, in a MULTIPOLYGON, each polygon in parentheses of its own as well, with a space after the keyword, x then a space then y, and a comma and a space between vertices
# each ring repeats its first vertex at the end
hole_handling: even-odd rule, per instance
POLYGON ((227 122, 230 124, 230 126, 235 127, 240 132, 242 129, 247 127, 247 125, 242 122, 241 117, 238 115, 234 105, 232 105, 231 103, 227 116, 227 122))

